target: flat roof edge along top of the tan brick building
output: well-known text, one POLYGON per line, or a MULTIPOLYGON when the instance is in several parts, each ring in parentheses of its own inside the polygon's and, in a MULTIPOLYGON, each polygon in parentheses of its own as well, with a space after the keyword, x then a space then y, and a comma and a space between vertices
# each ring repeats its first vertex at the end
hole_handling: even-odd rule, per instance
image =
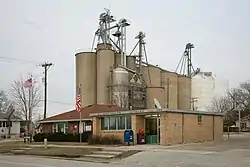
POLYGON ((218 113, 218 112, 178 110, 178 109, 167 109, 167 108, 164 108, 160 111, 157 109, 125 110, 125 111, 113 111, 113 112, 102 112, 102 113, 90 113, 89 115, 91 117, 98 117, 98 116, 128 115, 128 114, 147 115, 156 113, 183 113, 183 114, 202 114, 202 115, 215 115, 215 116, 224 115, 223 113, 218 113))

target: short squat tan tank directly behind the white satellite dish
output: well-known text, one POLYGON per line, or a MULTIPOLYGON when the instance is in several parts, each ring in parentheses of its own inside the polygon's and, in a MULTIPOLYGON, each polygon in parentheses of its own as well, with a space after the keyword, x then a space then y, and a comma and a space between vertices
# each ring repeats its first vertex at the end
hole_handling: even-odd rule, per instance
POLYGON ((162 108, 165 107, 164 101, 164 88, 163 87, 147 87, 147 108, 155 108, 154 107, 154 98, 156 98, 162 108))

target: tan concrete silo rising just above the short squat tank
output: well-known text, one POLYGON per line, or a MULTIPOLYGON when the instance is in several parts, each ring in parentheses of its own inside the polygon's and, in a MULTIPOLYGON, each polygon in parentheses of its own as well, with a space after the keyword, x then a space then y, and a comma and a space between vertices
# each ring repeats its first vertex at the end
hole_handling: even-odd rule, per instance
POLYGON ((149 87, 161 87, 161 68, 156 66, 142 66, 142 77, 149 87), (150 75, 149 75, 150 74, 150 75), (150 80, 151 84, 150 84, 150 80))

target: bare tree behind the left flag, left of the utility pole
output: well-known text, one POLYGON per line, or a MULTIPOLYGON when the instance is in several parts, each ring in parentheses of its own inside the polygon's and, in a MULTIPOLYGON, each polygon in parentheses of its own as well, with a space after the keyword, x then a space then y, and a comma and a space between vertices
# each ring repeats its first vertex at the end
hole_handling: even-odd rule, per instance
POLYGON ((11 96, 17 112, 25 119, 26 130, 32 137, 32 117, 41 101, 40 87, 33 82, 32 76, 25 81, 20 78, 12 84, 11 96))

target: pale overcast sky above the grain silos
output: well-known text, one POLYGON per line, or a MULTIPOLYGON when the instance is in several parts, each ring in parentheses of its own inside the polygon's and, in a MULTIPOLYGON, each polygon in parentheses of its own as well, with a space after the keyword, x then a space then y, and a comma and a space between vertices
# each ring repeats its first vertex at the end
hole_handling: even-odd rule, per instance
POLYGON ((249 0, 0 0, 0 57, 26 60, 0 58, 0 89, 9 90, 28 73, 41 83, 37 64, 50 61, 48 115, 74 108, 74 54, 90 50, 104 8, 131 21, 128 52, 137 33, 146 33, 152 64, 175 70, 192 42, 195 68, 229 79, 231 86, 250 78, 249 0))

